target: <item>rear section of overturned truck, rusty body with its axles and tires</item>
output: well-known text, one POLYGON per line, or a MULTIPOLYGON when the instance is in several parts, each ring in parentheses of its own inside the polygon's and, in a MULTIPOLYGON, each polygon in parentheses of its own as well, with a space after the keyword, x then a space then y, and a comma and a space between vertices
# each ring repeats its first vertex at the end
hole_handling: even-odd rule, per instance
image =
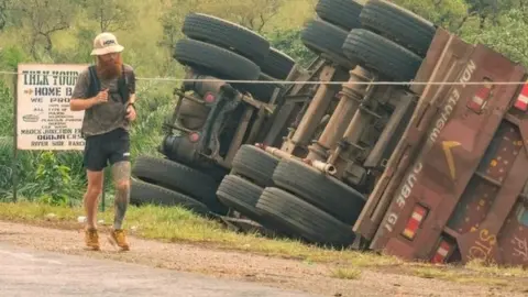
POLYGON ((386 1, 360 19, 348 82, 319 86, 284 142, 243 145, 219 199, 308 242, 528 265, 528 85, 499 84, 526 68, 386 1))

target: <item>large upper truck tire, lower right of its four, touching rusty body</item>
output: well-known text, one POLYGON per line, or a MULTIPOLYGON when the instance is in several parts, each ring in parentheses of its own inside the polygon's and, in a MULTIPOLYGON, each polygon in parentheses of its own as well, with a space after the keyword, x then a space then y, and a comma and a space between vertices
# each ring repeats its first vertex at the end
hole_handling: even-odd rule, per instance
POLYGON ((364 29, 350 31, 343 52, 363 67, 397 81, 414 79, 422 61, 409 50, 364 29))

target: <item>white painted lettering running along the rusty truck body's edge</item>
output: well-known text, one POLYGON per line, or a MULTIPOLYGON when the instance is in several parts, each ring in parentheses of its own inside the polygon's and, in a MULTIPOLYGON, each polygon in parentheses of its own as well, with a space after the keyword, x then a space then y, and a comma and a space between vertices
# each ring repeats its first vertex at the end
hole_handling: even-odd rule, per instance
MULTIPOLYGON (((457 103, 460 100, 462 89, 466 87, 465 82, 471 80, 471 78, 473 77, 473 74, 475 73, 475 69, 476 69, 475 63, 472 59, 470 59, 462 73, 462 76, 459 79, 461 85, 454 86, 453 90, 449 95, 449 99, 446 102, 446 106, 443 106, 442 112, 440 113, 440 117, 437 119, 431 132, 428 135, 427 142, 421 148, 420 153, 427 152, 432 146, 432 144, 437 141, 438 136, 440 135, 440 132, 446 127, 446 123, 448 122, 451 113, 453 112, 454 108, 457 107, 457 103)), ((413 193, 413 188, 415 187, 416 182, 418 180, 418 176, 421 173, 422 168, 424 168, 424 164, 421 163, 421 160, 418 160, 415 163, 411 172, 408 173, 404 178, 404 184, 400 186, 398 196, 395 201, 398 208, 395 208, 393 206, 392 211, 385 217, 385 222, 382 223, 388 232, 393 231, 394 226, 398 221, 399 212, 402 209, 405 208, 407 199, 410 197, 410 194, 413 193)))

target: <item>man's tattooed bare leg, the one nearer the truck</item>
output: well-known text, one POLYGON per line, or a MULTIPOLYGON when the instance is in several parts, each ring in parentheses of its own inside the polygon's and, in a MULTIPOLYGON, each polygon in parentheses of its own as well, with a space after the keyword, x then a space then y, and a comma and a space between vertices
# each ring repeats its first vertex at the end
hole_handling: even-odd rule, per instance
POLYGON ((116 213, 113 229, 120 230, 123 226, 124 215, 130 202, 130 162, 122 161, 113 164, 112 177, 116 185, 116 213))

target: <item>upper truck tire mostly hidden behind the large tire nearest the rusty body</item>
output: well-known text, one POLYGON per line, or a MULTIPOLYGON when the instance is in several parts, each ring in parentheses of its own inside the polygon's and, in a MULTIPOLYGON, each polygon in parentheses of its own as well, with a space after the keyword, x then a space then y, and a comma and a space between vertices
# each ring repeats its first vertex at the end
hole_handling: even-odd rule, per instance
POLYGON ((332 62, 352 69, 355 66, 344 56, 342 50, 346 34, 348 31, 339 26, 321 20, 311 20, 302 30, 300 38, 314 53, 318 55, 324 53, 332 62))

